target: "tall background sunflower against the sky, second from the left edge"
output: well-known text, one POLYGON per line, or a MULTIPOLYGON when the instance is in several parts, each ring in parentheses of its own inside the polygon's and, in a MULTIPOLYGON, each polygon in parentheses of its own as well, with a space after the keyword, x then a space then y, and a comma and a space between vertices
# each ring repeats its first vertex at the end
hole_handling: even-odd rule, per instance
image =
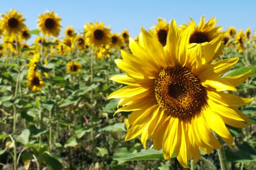
POLYGON ((59 36, 61 31, 61 17, 58 17, 54 11, 46 11, 44 15, 38 16, 38 28, 42 30, 45 36, 59 36))

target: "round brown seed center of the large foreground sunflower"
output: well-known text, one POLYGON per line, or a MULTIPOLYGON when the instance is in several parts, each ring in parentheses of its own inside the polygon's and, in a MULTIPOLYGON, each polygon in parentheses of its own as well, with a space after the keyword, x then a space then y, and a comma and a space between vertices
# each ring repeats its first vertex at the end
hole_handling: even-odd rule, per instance
POLYGON ((170 116, 191 118, 206 103, 206 90, 187 67, 166 67, 155 81, 156 101, 170 116))

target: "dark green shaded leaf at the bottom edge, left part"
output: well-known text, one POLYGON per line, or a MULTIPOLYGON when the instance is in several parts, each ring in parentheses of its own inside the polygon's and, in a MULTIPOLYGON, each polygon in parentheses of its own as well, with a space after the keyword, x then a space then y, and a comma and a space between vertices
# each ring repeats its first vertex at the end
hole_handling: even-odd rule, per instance
POLYGON ((61 163, 62 161, 61 161, 61 158, 59 157, 59 155, 49 153, 49 152, 44 152, 42 154, 42 157, 43 157, 43 160, 46 163, 46 165, 51 167, 51 169, 53 169, 53 170, 63 169, 62 163, 61 163))

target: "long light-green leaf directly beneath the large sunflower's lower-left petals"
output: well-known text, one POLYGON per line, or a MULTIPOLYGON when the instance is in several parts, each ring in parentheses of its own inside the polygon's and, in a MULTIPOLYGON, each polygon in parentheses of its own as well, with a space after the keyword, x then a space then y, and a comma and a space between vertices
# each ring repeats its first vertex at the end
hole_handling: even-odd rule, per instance
MULTIPOLYGON (((172 157, 176 157, 176 156, 172 155, 172 157)), ((145 151, 141 151, 140 153, 131 153, 129 155, 125 155, 123 157, 116 157, 114 159, 117 161, 158 160, 158 159, 164 159, 164 155, 162 154, 162 151, 148 149, 145 151)))

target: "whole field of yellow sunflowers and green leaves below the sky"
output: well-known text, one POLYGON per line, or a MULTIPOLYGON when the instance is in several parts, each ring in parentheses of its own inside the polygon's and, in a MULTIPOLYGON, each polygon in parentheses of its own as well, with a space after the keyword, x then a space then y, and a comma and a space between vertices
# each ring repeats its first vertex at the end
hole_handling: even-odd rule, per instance
POLYGON ((0 17, 0 169, 256 169, 249 28, 158 18, 133 39, 54 11, 25 22, 0 17))

